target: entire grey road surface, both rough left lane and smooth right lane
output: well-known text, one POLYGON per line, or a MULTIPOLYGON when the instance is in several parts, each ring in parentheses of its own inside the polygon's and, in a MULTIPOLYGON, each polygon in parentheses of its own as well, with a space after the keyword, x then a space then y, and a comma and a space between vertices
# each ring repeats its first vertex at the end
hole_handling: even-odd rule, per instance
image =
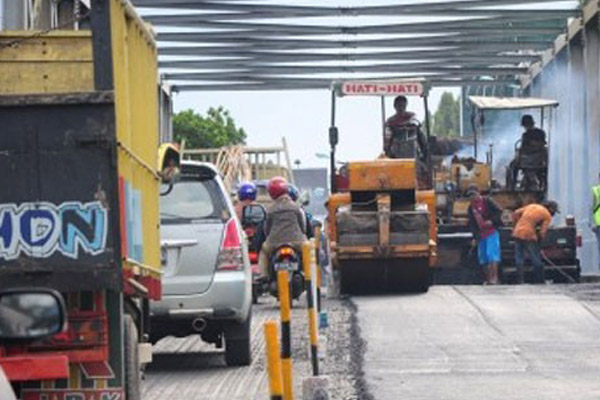
MULTIPOLYGON (((254 310, 254 362, 225 366, 198 338, 154 348, 145 400, 267 399, 262 324, 254 310)), ((331 400, 598 400, 600 285, 434 286, 420 295, 328 298, 321 367, 331 400)), ((306 309, 293 310, 295 398, 310 376, 306 309)))

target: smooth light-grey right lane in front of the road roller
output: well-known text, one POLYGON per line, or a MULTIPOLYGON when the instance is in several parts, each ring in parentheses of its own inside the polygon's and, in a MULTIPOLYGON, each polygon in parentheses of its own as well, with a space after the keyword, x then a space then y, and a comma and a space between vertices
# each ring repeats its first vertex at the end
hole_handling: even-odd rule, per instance
POLYGON ((566 286, 436 286, 358 297, 376 400, 597 400, 597 302, 566 286))

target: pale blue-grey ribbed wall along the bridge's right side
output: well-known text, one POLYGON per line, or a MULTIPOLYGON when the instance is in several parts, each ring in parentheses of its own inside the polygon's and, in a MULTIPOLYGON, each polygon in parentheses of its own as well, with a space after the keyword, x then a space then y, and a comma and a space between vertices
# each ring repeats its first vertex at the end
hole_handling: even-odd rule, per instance
POLYGON ((528 88, 531 95, 556 99, 549 117, 549 198, 559 202, 562 216, 572 214, 583 236, 582 270, 600 273, 592 223, 591 187, 600 173, 600 31, 596 13, 566 46, 546 63, 528 88))

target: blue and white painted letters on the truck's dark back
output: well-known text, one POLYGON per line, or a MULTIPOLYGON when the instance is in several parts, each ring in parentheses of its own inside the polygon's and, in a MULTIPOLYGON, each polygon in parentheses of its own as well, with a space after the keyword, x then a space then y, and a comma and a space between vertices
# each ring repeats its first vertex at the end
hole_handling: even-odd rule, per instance
POLYGON ((108 211, 99 201, 0 204, 0 258, 98 255, 106 248, 107 225, 108 211))

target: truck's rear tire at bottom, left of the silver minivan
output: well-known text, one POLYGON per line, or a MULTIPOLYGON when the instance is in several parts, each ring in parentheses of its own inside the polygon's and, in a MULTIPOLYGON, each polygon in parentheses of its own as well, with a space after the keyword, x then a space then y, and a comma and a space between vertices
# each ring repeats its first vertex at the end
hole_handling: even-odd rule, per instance
POLYGON ((142 371, 138 353, 138 332, 130 315, 123 318, 123 362, 125 364, 125 398, 141 400, 142 371))

